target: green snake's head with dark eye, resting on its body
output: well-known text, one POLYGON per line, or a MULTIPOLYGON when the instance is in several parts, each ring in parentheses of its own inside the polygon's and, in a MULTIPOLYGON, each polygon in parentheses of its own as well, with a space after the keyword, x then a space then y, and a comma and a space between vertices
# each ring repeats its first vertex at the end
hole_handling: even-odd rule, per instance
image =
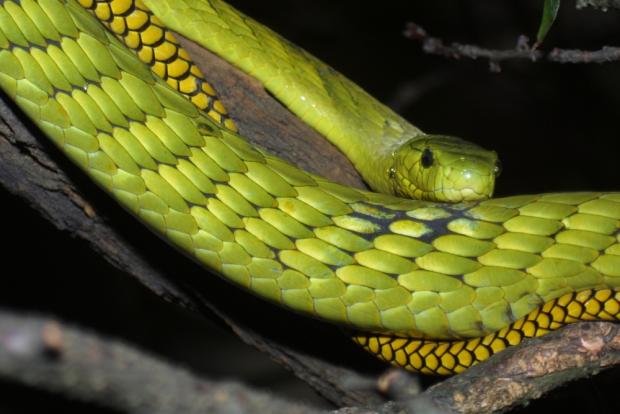
POLYGON ((393 153, 393 191, 403 197, 461 202, 490 198, 501 170, 495 151, 463 139, 423 135, 393 153))

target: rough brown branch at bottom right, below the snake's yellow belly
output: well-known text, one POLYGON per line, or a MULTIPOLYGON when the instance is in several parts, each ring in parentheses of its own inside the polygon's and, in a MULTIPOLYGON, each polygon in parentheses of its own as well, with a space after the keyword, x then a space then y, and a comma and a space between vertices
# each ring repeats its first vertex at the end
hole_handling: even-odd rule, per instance
POLYGON ((502 351, 423 396, 459 413, 500 413, 618 364, 620 326, 582 322, 502 351))

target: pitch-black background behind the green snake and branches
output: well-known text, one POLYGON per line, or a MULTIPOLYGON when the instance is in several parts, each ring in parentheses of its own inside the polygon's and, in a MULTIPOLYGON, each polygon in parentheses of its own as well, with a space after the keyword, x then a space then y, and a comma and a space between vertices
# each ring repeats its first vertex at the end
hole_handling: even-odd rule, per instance
MULTIPOLYGON (((446 42, 512 48, 519 34, 535 35, 542 1, 230 2, 330 63, 424 131, 458 135, 498 151, 504 172, 497 195, 620 189, 620 63, 506 62, 497 74, 488 70, 484 60, 425 55, 402 35, 405 22, 415 21, 446 42)), ((564 2, 543 49, 620 45, 619 23, 620 11, 576 11, 573 2, 564 2)), ((2 250, 0 274, 5 286, 0 289, 0 306, 57 315, 191 366, 210 378, 236 379, 276 395, 329 407, 226 329, 162 303, 52 229, 20 201, 2 193, 0 201, 2 216, 11 217, 2 225, 3 240, 10 248, 2 250)), ((135 232, 137 240, 150 238, 147 232, 137 228, 135 232)), ((225 284, 213 283, 214 290, 235 294, 225 284)), ((249 309, 254 299, 243 295, 233 300, 249 309)), ((265 312, 269 315, 273 309, 267 306, 265 312)), ((308 335, 314 328, 309 324, 308 335)), ((355 354, 353 362, 343 363, 362 364, 361 370, 378 369, 346 338, 337 347, 355 354)), ((616 369, 581 381, 523 412, 563 407, 617 412, 618 378, 616 369)), ((92 407, 6 383, 0 383, 0 395, 0 413, 34 412, 41 404, 64 412, 95 412, 92 407)))

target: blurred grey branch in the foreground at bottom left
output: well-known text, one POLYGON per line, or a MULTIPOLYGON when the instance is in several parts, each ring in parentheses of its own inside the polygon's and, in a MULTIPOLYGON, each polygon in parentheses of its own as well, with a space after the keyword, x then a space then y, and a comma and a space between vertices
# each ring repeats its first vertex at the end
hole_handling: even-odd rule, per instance
POLYGON ((0 376, 127 413, 314 414, 237 383, 214 383, 56 320, 0 311, 0 376))

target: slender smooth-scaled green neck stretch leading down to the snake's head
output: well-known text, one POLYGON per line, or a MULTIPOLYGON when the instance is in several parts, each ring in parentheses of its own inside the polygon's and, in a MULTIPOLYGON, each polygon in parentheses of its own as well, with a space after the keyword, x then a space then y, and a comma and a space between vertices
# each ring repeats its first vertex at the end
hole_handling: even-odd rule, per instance
POLYGON ((144 3, 172 30, 258 79, 342 151, 374 191, 393 194, 392 154, 421 131, 345 76, 220 0, 144 3), (227 30, 221 30, 227 27, 227 30))

